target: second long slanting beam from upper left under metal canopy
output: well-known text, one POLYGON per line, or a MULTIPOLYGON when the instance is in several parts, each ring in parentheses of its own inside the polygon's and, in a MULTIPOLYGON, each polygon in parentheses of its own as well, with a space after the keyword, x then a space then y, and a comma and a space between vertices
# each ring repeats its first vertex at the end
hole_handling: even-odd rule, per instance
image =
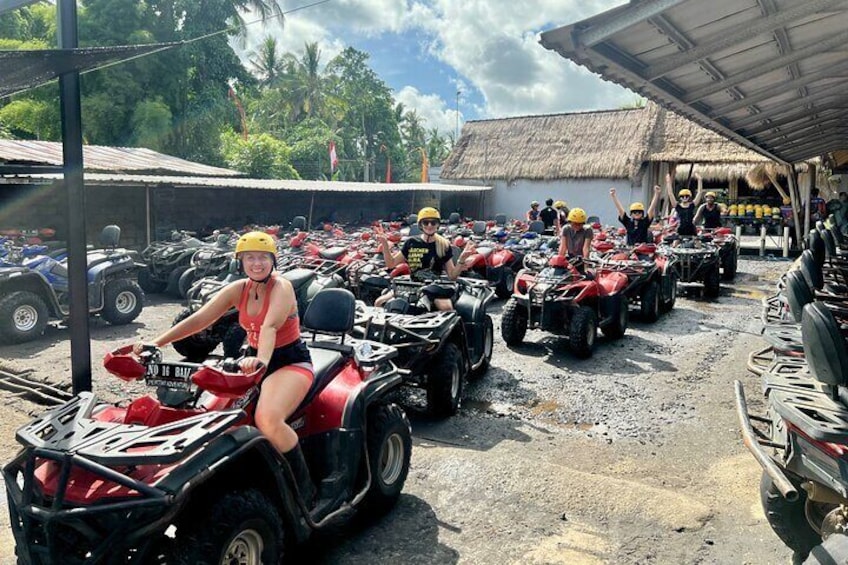
POLYGON ((656 80, 684 65, 700 61, 713 53, 732 47, 752 37, 774 31, 783 25, 797 21, 812 13, 823 12, 833 5, 848 4, 846 0, 812 0, 799 2, 797 6, 776 14, 743 22, 727 31, 704 38, 700 44, 670 57, 663 57, 657 63, 645 69, 647 80, 656 80))

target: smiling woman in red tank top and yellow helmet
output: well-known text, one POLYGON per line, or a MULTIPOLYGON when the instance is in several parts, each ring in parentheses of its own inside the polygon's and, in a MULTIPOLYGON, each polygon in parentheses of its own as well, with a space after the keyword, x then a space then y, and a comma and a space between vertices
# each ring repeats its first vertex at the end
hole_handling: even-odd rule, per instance
MULTIPOLYGON (((214 324, 232 308, 238 309, 239 324, 247 332, 247 355, 239 361, 245 373, 264 365, 256 426, 288 460, 303 499, 314 498, 314 486, 300 450, 298 437, 286 419, 306 397, 314 378, 312 358, 300 338, 300 319, 291 283, 274 273, 277 246, 263 232, 249 232, 236 244, 239 268, 247 279, 224 287, 197 312, 153 340, 164 347, 214 324)), ((145 345, 133 351, 139 355, 145 345)))

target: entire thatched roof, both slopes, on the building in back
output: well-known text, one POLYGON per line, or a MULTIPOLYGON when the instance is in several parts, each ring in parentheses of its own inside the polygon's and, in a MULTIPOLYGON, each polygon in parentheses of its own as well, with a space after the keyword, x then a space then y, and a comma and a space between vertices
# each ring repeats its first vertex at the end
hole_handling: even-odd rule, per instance
POLYGON ((651 161, 694 162, 703 178, 727 179, 768 159, 649 102, 642 109, 469 121, 441 178, 636 180, 651 161))

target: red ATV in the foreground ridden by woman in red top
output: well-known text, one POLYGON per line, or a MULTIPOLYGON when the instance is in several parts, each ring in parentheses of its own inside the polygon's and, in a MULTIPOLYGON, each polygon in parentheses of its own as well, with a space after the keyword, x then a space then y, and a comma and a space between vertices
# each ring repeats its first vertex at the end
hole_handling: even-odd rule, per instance
POLYGON ((315 381, 289 423, 314 502, 253 426, 261 371, 156 349, 139 362, 125 347, 106 369, 155 395, 117 406, 81 393, 17 432, 24 448, 3 475, 18 563, 281 563, 334 518, 388 510, 411 452, 409 421, 386 400, 397 350, 345 339, 353 316, 350 292, 331 289, 303 319, 315 381))

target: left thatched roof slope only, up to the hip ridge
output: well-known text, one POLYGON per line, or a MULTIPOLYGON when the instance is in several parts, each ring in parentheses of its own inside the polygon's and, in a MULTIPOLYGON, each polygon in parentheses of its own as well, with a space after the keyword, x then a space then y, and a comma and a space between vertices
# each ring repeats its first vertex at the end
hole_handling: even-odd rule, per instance
POLYGON ((466 122, 443 179, 628 178, 648 149, 644 109, 466 122))

